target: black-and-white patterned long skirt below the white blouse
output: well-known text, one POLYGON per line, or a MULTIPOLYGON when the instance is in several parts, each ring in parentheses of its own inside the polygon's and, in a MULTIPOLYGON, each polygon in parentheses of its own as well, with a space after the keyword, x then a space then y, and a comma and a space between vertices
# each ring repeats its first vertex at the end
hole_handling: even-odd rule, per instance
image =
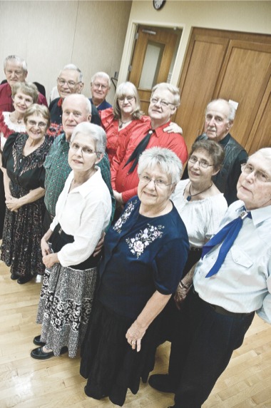
POLYGON ((37 323, 41 323, 41 341, 60 355, 68 347, 68 356, 76 357, 83 337, 96 287, 97 269, 75 270, 56 263, 45 270, 37 323))

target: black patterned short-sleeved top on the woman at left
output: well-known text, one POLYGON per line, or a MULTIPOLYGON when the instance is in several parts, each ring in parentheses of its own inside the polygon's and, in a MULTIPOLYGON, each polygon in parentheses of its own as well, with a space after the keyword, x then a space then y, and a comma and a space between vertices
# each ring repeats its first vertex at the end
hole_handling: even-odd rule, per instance
POLYGON ((45 138, 44 143, 29 155, 24 155, 24 145, 28 139, 26 133, 14 133, 9 136, 2 155, 3 167, 12 184, 12 195, 17 197, 19 190, 26 192, 35 188, 44 188, 44 160, 51 142, 45 138), (17 189, 16 189, 17 186, 17 189))

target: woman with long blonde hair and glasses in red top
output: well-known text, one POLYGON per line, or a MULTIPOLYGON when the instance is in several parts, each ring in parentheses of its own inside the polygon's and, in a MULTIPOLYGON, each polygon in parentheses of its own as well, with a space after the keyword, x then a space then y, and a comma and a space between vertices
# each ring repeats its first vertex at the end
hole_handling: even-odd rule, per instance
POLYGON ((106 152, 111 163, 121 141, 131 134, 149 127, 148 116, 140 111, 140 99, 136 86, 131 82, 123 82, 116 89, 113 108, 100 111, 101 122, 106 131, 106 152))

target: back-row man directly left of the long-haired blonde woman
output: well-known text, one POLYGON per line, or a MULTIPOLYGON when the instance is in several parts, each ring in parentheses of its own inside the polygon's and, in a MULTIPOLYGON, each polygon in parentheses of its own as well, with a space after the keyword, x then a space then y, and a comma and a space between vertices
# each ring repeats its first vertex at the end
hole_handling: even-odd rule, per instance
POLYGON ((111 80, 107 73, 96 72, 91 78, 91 103, 98 109, 111 108, 112 105, 106 101, 106 96, 111 88, 111 80))

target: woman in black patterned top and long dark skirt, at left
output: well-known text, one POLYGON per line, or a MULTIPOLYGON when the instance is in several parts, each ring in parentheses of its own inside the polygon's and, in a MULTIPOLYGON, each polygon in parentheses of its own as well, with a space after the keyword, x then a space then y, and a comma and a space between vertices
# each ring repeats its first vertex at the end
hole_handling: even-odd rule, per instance
POLYGON ((49 123, 48 108, 34 103, 24 114, 26 133, 9 136, 2 153, 7 210, 1 260, 11 267, 11 279, 20 284, 44 273, 40 242, 49 123))

